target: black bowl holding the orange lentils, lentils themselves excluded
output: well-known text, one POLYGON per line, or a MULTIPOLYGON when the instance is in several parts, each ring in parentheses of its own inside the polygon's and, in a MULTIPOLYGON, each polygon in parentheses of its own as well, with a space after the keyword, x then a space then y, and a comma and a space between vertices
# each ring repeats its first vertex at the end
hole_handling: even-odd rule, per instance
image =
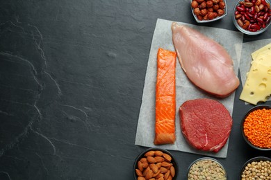
MULTIPOLYGON (((241 127, 241 133, 242 133, 242 136, 245 140, 245 142, 247 142, 248 145, 250 145, 251 147, 253 147, 254 149, 256 150, 261 150, 261 151, 269 151, 271 150, 271 148, 262 148, 262 147, 257 147, 256 145, 253 145, 249 139, 247 138, 247 136, 245 136, 245 133, 244 133, 244 123, 245 123, 245 119, 247 118, 247 116, 249 116, 250 113, 252 113, 252 111, 255 111, 257 109, 271 109, 271 106, 270 105, 257 105, 255 107, 252 107, 251 109, 249 109, 249 111, 247 111, 247 113, 245 114, 245 116, 243 117, 242 121, 241 121, 241 124, 240 124, 240 127, 241 127)), ((271 115, 270 115, 271 116, 271 115)))

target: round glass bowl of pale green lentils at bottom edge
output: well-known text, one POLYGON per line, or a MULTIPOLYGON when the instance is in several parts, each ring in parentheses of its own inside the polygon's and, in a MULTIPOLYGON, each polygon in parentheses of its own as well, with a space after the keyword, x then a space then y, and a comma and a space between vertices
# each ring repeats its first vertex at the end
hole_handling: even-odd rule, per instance
POLYGON ((188 168, 188 180, 220 179, 227 180, 227 171, 224 165, 211 157, 203 157, 191 163, 188 168))

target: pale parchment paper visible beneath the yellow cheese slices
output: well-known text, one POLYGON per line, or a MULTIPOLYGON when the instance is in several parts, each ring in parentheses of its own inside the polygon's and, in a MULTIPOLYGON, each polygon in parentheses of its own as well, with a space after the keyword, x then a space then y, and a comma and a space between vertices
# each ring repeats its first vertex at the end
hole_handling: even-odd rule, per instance
MULTIPOLYGON (((252 63, 252 53, 257 51, 259 48, 266 46, 271 43, 271 39, 262 39, 254 42, 246 42, 243 44, 241 60, 240 60, 240 75, 241 81, 244 87, 245 81, 247 80, 247 72, 250 70, 250 66, 252 63)), ((271 98, 268 98, 268 101, 271 98)), ((248 104, 247 102, 244 102, 248 104)))

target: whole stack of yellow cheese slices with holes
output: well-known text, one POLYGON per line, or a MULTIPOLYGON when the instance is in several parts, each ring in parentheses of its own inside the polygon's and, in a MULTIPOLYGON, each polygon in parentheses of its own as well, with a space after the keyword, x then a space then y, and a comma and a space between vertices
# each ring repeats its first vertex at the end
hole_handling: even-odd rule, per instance
POLYGON ((252 53, 252 66, 240 94, 240 100, 256 105, 271 94, 271 44, 252 53))

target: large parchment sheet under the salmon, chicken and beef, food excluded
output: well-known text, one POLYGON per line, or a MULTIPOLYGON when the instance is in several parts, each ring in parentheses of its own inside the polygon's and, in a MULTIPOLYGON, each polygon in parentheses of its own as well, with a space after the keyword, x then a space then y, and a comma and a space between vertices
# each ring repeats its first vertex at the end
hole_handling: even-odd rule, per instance
MULTIPOLYGON (((149 53, 149 61, 147 64, 147 73, 145 77, 145 86, 142 95, 142 105, 140 107, 140 114, 138 118, 135 144, 145 147, 161 147, 167 150, 176 150, 181 152, 226 158, 229 142, 227 142, 227 144, 222 148, 222 150, 220 150, 220 152, 202 152, 190 147, 190 145, 186 143, 186 140, 181 134, 178 109, 183 104, 183 102, 196 98, 216 98, 214 98, 213 96, 209 96, 206 93, 203 93, 188 80, 185 73, 181 69, 179 60, 176 60, 176 142, 173 145, 154 145, 157 51, 159 47, 174 51, 171 30, 172 22, 173 21, 167 21, 164 19, 157 19, 156 22, 156 28, 154 30, 154 35, 151 42, 151 50, 149 53)), ((181 22, 177 23, 183 24, 181 22)), ((236 74, 238 73, 238 66, 241 55, 240 50, 243 43, 242 33, 231 30, 224 30, 221 28, 195 26, 191 24, 186 25, 199 30, 199 32, 212 39, 215 39, 215 41, 222 44, 222 46, 226 48, 229 55, 231 55, 233 59, 234 70, 236 74)), ((229 113, 232 115, 234 93, 227 98, 216 100, 222 102, 222 104, 229 110, 229 113)))

